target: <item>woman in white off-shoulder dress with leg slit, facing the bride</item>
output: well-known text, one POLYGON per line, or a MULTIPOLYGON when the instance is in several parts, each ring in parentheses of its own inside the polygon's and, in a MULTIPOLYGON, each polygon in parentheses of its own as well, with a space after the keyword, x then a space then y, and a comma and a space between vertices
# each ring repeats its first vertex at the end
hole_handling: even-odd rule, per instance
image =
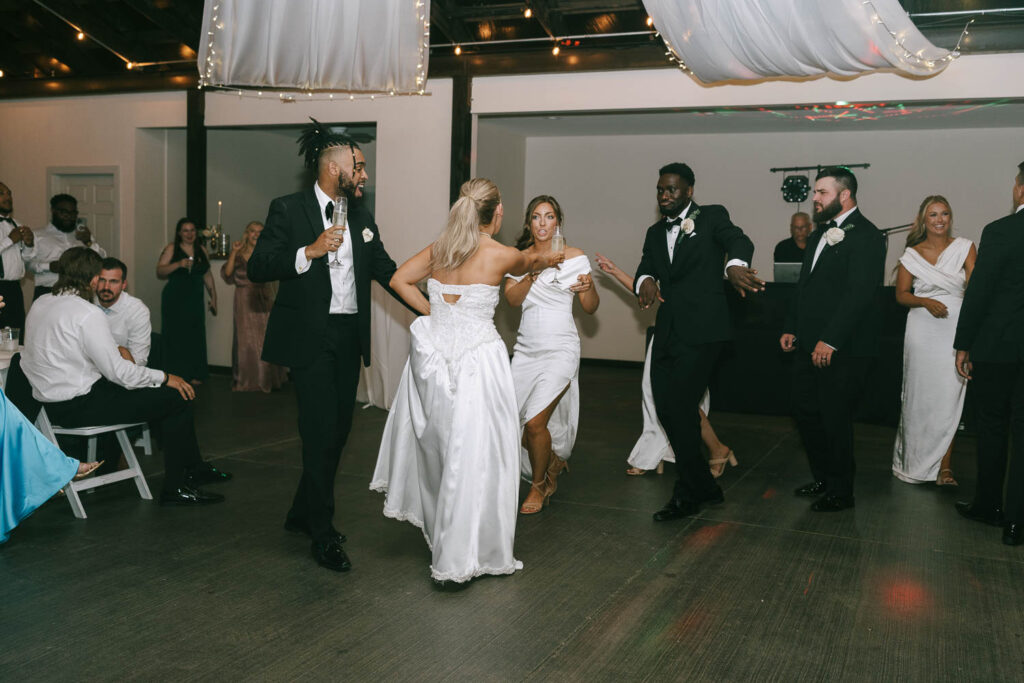
MULTIPOLYGON (((554 197, 529 201, 516 249, 530 256, 551 253, 551 238, 562 225, 554 197)), ((523 426, 522 473, 532 481, 519 513, 541 511, 558 486, 575 443, 580 423, 580 334, 572 319, 572 299, 593 314, 600 300, 590 276, 590 260, 575 247, 565 248, 565 262, 524 275, 509 275, 505 298, 522 306, 512 351, 512 379, 523 426)))

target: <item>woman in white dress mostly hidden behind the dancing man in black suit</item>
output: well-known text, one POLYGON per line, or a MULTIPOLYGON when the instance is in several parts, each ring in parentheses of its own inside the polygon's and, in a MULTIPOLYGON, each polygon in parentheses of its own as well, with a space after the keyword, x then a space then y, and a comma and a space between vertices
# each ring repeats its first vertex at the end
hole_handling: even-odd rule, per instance
MULTIPOLYGON (((633 293, 633 278, 628 275, 622 268, 615 265, 610 258, 597 254, 597 264, 625 287, 631 294, 633 293)), ((657 413, 654 412, 654 394, 650 389, 650 349, 654 344, 653 336, 647 343, 647 353, 644 355, 643 379, 640 381, 640 394, 643 409, 643 432, 637 439, 630 457, 627 459, 630 467, 626 473, 632 476, 645 474, 649 470, 656 470, 658 474, 663 471, 663 463, 676 462, 676 454, 672 452, 669 437, 657 421, 657 413)), ((735 467, 739 463, 732 449, 722 443, 715 433, 715 429, 708 420, 711 412, 711 393, 705 391, 697 414, 700 416, 700 440, 708 449, 710 458, 708 466, 712 476, 716 479, 725 472, 726 464, 735 467)))

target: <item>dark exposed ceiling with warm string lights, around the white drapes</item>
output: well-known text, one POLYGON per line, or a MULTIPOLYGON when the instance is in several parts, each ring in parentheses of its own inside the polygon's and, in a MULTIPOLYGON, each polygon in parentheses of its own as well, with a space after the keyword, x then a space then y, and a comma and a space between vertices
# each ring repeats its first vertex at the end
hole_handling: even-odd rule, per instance
MULTIPOLYGON (((901 4, 936 45, 952 47, 974 17, 963 52, 1024 50, 1024 0, 901 4)), ((667 63, 642 0, 431 0, 430 9, 435 77, 667 63)), ((202 19, 203 0, 0 0, 0 97, 191 87, 202 19)))

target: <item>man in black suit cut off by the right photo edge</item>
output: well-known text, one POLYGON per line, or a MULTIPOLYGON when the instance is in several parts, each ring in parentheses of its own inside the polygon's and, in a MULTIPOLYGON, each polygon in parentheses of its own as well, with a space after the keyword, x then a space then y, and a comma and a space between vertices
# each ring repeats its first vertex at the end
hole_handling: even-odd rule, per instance
POLYGON ((1024 543, 1024 163, 1014 182, 1014 213, 981 233, 956 323, 956 372, 972 380, 978 424, 978 484, 956 510, 1004 524, 1002 543, 1024 543), (1007 469, 1008 441, 1014 452, 1007 469), (1004 484, 1006 505, 1004 506, 1004 484))

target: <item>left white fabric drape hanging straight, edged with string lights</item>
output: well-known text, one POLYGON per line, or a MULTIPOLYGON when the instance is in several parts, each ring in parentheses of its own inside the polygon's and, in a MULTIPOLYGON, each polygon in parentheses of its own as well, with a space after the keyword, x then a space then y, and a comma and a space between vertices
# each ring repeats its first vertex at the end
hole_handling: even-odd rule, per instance
POLYGON ((420 93, 429 0, 206 0, 204 85, 420 93))

